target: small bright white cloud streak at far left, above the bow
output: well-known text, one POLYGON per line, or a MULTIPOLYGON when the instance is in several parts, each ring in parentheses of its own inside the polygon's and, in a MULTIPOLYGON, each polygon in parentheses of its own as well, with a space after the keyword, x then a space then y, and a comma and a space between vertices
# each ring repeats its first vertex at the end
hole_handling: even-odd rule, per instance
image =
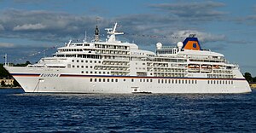
POLYGON ((18 25, 14 27, 14 31, 30 31, 30 30, 43 30, 46 26, 42 24, 25 24, 25 25, 18 25))

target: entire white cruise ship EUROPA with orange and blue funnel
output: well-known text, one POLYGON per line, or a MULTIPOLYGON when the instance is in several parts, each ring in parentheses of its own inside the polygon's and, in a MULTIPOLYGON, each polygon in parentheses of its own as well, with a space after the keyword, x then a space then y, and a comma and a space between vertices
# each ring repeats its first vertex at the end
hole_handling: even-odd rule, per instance
POLYGON ((25 92, 45 93, 247 93, 252 90, 238 65, 201 49, 195 34, 174 46, 156 43, 155 52, 124 43, 117 23, 106 41, 70 40, 52 57, 26 67, 5 69, 25 92))

